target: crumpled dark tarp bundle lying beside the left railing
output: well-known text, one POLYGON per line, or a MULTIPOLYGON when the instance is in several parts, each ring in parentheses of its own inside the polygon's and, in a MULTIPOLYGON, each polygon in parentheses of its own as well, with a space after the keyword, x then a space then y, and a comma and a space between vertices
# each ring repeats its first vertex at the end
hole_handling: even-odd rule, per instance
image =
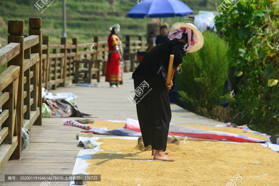
MULTIPOLYGON (((46 116, 43 113, 43 117, 50 118, 66 118, 66 117, 88 117, 97 118, 97 116, 85 114, 78 110, 77 106, 72 105, 67 100, 50 100, 43 98, 43 105, 46 106, 45 109, 51 111, 51 114, 46 116)), ((43 111, 44 112, 44 111, 43 111)))

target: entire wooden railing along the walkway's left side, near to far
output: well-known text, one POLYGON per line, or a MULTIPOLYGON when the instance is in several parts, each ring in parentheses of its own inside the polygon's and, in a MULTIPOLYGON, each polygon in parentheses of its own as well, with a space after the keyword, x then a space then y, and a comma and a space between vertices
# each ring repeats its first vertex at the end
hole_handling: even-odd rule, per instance
MULTIPOLYGON (((24 34, 24 21, 8 20, 8 45, 0 50, 0 67, 7 64, 0 74, 0 171, 8 160, 20 159, 21 128, 30 131, 32 125, 42 125, 42 87, 55 89, 72 83, 74 60, 105 61, 108 56, 107 41, 99 41, 98 36, 94 37, 94 46, 78 44, 77 38, 69 45, 65 37, 61 37, 60 45, 50 45, 41 28, 42 18, 29 18, 29 34, 24 34)), ((123 41, 127 60, 135 57, 136 50, 152 47, 141 36, 135 41, 126 36, 123 41)), ((104 75, 105 63, 102 68, 104 75)))

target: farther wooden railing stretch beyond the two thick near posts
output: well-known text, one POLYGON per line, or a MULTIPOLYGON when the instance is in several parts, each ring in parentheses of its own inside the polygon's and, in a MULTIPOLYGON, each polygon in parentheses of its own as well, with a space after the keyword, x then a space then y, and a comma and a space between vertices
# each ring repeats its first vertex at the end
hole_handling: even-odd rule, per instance
MULTIPOLYGON (((104 59, 108 57, 108 42, 99 41, 99 37, 94 37, 93 43, 78 44, 78 38, 72 38, 72 45, 66 44, 66 38, 61 37, 60 45, 50 45, 49 36, 42 37, 42 87, 48 89, 48 85, 55 89, 55 85, 64 86, 67 82, 72 82, 75 74, 74 60, 104 59), (92 47, 91 47, 92 46, 92 47), (94 50, 90 50, 94 49, 94 50), (65 63, 66 61, 66 63, 65 63)), ((147 50, 147 42, 142 36, 139 40, 130 41, 130 36, 126 36, 126 41, 122 42, 124 53, 135 53, 136 50, 147 50)), ((125 60, 130 60, 128 55, 125 60)), ((135 55, 133 55, 135 57, 135 55)), ((102 72, 105 74, 106 64, 102 64, 102 72)))

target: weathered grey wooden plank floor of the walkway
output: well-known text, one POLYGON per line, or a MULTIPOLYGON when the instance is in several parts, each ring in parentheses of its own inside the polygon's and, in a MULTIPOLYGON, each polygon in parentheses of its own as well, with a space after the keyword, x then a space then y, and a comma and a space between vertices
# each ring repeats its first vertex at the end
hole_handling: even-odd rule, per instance
MULTIPOLYGON (((78 96, 75 99, 78 109, 87 114, 99 116, 96 119, 137 119, 135 102, 131 104, 127 99, 134 90, 131 72, 124 73, 124 83, 120 88, 110 88, 108 82, 104 82, 104 76, 101 76, 101 82, 98 84, 101 87, 61 87, 49 90, 49 92, 75 94, 78 96)), ((175 104, 171 104, 171 110, 171 123, 174 124, 221 124, 221 122, 206 119, 184 110, 175 104)), ((83 149, 83 146, 78 145, 75 137, 80 131, 82 131, 80 128, 63 125, 62 118, 43 118, 42 126, 31 127, 31 141, 22 153, 21 160, 8 161, 0 172, 0 186, 40 185, 40 182, 4 182, 5 174, 72 174, 78 151, 83 149)), ((51 183, 51 186, 54 184, 51 183)), ((66 185, 68 186, 69 182, 57 184, 57 186, 66 185)))

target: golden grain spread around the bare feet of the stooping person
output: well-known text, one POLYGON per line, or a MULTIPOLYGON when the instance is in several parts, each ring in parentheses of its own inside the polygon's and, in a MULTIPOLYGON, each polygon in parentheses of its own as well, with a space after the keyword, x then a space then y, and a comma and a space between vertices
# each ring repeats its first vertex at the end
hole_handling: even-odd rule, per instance
POLYGON ((86 186, 226 185, 237 173, 242 179, 237 186, 244 181, 245 186, 278 185, 279 153, 255 143, 180 141, 180 150, 169 154, 177 161, 161 162, 145 161, 153 156, 150 151, 135 149, 136 140, 98 141, 104 142, 100 149, 110 144, 118 150, 97 152, 87 160, 86 172, 100 174, 101 181, 86 186))

